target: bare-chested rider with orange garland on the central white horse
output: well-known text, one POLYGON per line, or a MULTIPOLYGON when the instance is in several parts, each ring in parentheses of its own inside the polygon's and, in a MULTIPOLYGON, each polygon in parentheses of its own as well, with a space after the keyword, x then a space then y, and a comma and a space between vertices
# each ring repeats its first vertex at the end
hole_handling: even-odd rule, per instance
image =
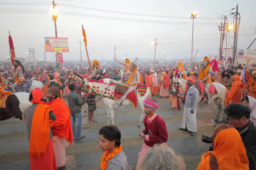
POLYGON ((117 108, 119 106, 119 104, 126 98, 126 96, 131 91, 134 91, 136 89, 137 85, 140 83, 140 73, 139 73, 139 71, 137 71, 137 65, 135 65, 134 63, 131 63, 130 71, 131 71, 131 75, 130 75, 130 77, 128 79, 128 82, 126 84, 126 85, 129 85, 130 87, 125 92, 125 94, 123 94, 123 96, 121 97, 119 102, 117 102, 116 105, 114 105, 114 108, 117 108))

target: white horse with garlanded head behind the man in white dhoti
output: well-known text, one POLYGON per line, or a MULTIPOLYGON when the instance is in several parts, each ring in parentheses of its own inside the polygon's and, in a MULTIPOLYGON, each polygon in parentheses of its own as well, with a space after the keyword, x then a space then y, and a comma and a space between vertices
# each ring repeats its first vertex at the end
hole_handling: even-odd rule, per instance
MULTIPOLYGON (((170 89, 171 94, 177 94, 180 91, 180 89, 182 89, 182 91, 185 91, 186 82, 186 79, 179 79, 177 77, 173 78, 173 80, 170 82, 170 85, 172 85, 170 89)), ((204 93, 204 84, 196 81, 195 87, 198 89, 200 94, 198 102, 207 101, 207 96, 204 93)), ((227 89, 224 85, 218 82, 213 82, 211 87, 209 88, 209 92, 211 96, 210 100, 213 100, 215 105, 217 105, 217 113, 214 121, 222 122, 222 112, 224 109, 224 102, 227 89)))

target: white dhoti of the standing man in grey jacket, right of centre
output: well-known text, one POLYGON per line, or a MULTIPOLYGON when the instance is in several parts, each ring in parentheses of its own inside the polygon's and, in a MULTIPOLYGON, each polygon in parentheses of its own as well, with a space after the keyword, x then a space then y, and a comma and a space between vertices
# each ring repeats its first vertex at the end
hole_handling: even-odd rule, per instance
POLYGON ((197 107, 195 108, 194 113, 191 113, 192 108, 184 107, 184 113, 183 113, 183 119, 182 119, 182 124, 181 128, 186 129, 189 132, 197 132, 196 130, 196 110, 197 107))

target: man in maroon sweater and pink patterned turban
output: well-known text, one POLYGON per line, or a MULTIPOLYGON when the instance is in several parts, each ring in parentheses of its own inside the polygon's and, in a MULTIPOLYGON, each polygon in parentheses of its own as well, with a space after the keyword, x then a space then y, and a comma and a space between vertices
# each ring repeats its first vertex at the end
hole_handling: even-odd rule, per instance
POLYGON ((145 98, 144 102, 144 126, 145 129, 139 133, 140 139, 144 139, 142 150, 139 153, 138 165, 145 153, 154 144, 166 143, 168 132, 164 120, 155 113, 159 105, 154 99, 145 98))

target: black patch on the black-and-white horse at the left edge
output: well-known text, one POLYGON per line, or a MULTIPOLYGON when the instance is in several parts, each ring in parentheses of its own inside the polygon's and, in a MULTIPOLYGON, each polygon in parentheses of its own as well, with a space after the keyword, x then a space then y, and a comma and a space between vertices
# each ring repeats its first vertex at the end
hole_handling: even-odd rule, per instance
POLYGON ((20 111, 20 101, 15 94, 10 94, 6 99, 6 109, 11 111, 14 117, 22 120, 22 111, 20 111))

